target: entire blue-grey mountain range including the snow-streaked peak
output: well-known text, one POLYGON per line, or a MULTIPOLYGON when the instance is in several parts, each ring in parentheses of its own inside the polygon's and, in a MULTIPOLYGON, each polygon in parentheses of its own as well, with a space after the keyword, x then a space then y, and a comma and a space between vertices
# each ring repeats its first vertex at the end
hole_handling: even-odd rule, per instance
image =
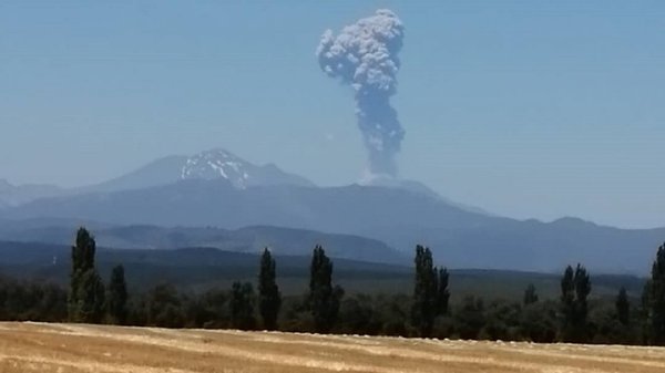
MULTIPOLYGON (((182 245, 205 245, 206 239, 216 245, 209 237, 198 241, 196 227, 242 232, 244 227, 256 226, 386 242, 375 246, 383 245, 371 256, 396 248, 410 257, 416 244, 424 244, 438 261, 454 268, 559 271, 567 263, 582 262, 595 271, 645 273, 665 240, 665 229, 616 229, 575 218, 546 224, 497 217, 451 203, 416 182, 375 179, 364 185, 317 187, 276 166, 256 166, 223 149, 162 158, 108 183, 11 205, 0 210, 0 218, 14 224, 58 218, 100 221, 102 228, 104 224, 188 227, 174 230, 176 237, 186 238, 182 245)), ((105 236, 106 231, 98 235, 117 246, 181 245, 170 238, 174 231, 168 229, 141 229, 142 235, 152 229, 161 238, 141 241, 105 236)), ((307 247, 313 245, 311 239, 304 241, 307 247)), ((270 245, 270 240, 263 244, 270 245)), ((293 240, 288 246, 296 247, 293 240)), ((368 259, 370 255, 360 251, 365 250, 347 257, 368 259)))

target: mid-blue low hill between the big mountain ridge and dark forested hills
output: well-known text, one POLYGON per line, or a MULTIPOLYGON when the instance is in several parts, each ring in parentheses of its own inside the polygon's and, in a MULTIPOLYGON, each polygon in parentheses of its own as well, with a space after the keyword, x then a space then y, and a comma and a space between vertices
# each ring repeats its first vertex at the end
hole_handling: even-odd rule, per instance
MULTIPOLYGON (((316 245, 336 258, 382 263, 408 263, 403 253, 386 244, 358 236, 330 235, 313 230, 279 227, 245 227, 237 230, 221 228, 163 228, 156 226, 104 227, 93 229, 101 247, 114 249, 178 249, 211 247, 235 252, 259 252, 270 248, 276 255, 308 256, 316 245)), ((20 242, 70 245, 76 225, 65 221, 43 224, 34 220, 14 221, 0 228, 0 239, 20 242)))

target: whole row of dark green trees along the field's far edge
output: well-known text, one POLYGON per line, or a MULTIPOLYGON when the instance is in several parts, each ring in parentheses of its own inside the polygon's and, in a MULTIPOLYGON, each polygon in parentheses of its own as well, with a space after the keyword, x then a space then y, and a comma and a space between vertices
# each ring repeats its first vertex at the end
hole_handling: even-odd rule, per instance
POLYGON ((448 270, 436 267, 431 250, 423 246, 416 247, 411 294, 345 294, 332 281, 331 259, 316 246, 309 286, 300 297, 283 297, 268 249, 258 262, 256 289, 253 282, 236 281, 231 289, 186 293, 162 283, 132 294, 122 265, 112 269, 104 284, 95 250, 92 235, 79 229, 66 290, 0 278, 0 319, 665 345, 665 245, 657 249, 640 297, 631 298, 622 288, 614 299, 590 298, 591 276, 576 265, 563 271, 557 299, 541 299, 529 284, 521 302, 468 296, 456 303, 450 301, 448 270))

